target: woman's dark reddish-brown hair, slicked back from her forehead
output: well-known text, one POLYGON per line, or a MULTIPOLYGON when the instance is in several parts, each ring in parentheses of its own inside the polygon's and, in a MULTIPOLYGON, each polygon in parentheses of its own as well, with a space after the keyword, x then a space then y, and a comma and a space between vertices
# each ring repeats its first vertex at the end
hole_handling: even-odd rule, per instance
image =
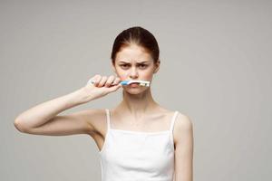
POLYGON ((159 61, 160 49, 156 38, 148 30, 141 26, 133 26, 126 30, 123 30, 114 40, 112 46, 112 64, 115 64, 116 53, 121 51, 121 48, 135 43, 146 52, 151 53, 151 57, 154 62, 159 61))

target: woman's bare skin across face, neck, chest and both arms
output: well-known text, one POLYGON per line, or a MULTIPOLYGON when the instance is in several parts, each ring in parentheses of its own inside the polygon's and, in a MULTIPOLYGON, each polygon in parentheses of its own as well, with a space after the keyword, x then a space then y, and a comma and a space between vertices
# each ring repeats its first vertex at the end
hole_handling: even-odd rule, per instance
MULTIPOLYGON (((70 94, 48 100, 15 119, 15 128, 35 135, 63 136, 87 134, 102 149, 107 132, 104 109, 81 110, 72 114, 58 115, 63 110, 99 99, 122 87, 123 98, 111 112, 111 128, 141 132, 157 132, 170 129, 173 110, 162 108, 151 95, 151 87, 121 86, 123 80, 152 81, 159 71, 160 61, 154 63, 151 55, 140 46, 131 44, 116 54, 112 70, 116 76, 96 74, 93 85, 89 84, 70 94)), ((192 181, 193 135, 188 116, 178 114, 173 129, 176 154, 176 180, 192 181)))

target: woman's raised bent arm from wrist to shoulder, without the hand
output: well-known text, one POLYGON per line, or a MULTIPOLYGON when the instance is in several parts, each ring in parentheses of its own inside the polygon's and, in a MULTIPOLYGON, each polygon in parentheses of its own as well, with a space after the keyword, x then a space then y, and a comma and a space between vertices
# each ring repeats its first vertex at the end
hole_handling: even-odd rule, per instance
POLYGON ((84 118, 93 111, 83 110, 56 116, 63 110, 83 104, 85 97, 85 90, 80 89, 25 110, 15 119, 15 128, 24 133, 38 135, 68 135, 92 131, 91 124, 84 118))

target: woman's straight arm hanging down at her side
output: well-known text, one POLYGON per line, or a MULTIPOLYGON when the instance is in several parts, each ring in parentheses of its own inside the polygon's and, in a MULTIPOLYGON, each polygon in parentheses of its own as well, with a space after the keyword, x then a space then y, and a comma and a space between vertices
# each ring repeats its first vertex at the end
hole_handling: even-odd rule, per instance
POLYGON ((193 125, 188 116, 180 115, 175 123, 175 181, 193 180, 193 125))

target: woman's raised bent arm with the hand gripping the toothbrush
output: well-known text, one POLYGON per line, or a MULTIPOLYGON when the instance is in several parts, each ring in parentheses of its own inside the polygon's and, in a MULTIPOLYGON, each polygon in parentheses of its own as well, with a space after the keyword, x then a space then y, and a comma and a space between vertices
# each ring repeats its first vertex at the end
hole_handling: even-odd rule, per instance
POLYGON ((101 98, 121 88, 120 78, 96 74, 93 84, 87 83, 80 90, 48 100, 24 111, 15 119, 15 128, 24 133, 36 135, 71 135, 95 133, 94 121, 101 120, 104 110, 82 110, 73 114, 57 116, 63 110, 70 109, 90 100, 101 98))

